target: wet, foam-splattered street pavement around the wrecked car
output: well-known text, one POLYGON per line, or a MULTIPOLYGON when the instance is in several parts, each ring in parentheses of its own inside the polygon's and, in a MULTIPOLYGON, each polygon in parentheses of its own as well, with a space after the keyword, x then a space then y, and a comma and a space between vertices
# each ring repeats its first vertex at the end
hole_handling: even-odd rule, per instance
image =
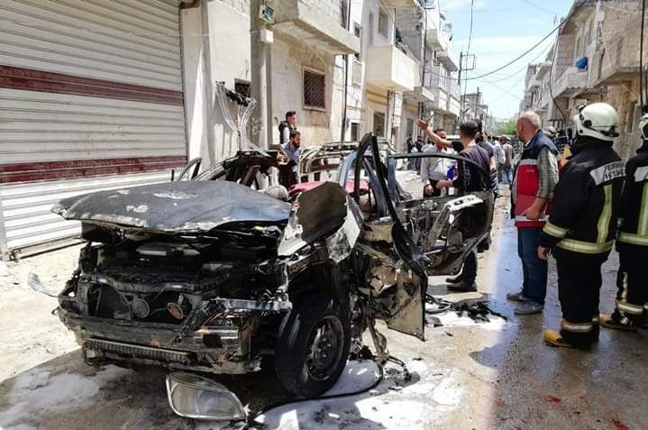
MULTIPOLYGON (((561 317, 555 265, 550 264, 544 313, 515 316, 506 294, 520 288, 521 270, 506 206, 506 197, 497 203, 493 245, 479 258, 479 295, 448 295, 442 278, 430 279, 430 291, 445 298, 488 298, 507 321, 494 317, 477 324, 441 316, 443 325, 429 325, 425 342, 381 325, 411 380, 389 364, 376 389, 278 407, 261 417, 268 428, 648 428, 648 331, 602 329, 589 352, 543 344, 543 329, 557 328, 561 317)), ((62 287, 77 253, 68 248, 0 270, 0 428, 217 428, 173 415, 162 371, 93 369, 81 361, 74 336, 49 313, 56 299, 43 294, 62 287)), ((616 267, 613 253, 603 267, 602 311, 614 307, 616 267)), ((376 375, 371 362, 351 362, 333 390, 368 387, 376 375)), ((221 380, 254 409, 287 398, 271 374, 221 380)))

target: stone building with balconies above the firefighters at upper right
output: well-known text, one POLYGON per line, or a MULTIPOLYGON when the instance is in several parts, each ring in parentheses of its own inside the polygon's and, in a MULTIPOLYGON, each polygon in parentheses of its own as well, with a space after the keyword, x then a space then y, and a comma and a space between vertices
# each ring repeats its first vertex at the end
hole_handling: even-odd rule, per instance
POLYGON ((619 114, 616 151, 632 156, 641 115, 640 32, 639 0, 577 0, 547 59, 529 65, 520 110, 533 109, 543 126, 567 129, 579 105, 607 102, 619 114))

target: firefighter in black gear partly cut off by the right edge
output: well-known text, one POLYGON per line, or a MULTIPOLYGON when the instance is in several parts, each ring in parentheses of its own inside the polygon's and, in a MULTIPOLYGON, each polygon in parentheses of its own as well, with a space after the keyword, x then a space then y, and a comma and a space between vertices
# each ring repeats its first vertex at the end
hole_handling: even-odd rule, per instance
POLYGON ((620 267, 612 316, 601 316, 607 328, 634 331, 646 326, 648 313, 648 114, 639 121, 643 144, 625 166, 616 251, 620 267))

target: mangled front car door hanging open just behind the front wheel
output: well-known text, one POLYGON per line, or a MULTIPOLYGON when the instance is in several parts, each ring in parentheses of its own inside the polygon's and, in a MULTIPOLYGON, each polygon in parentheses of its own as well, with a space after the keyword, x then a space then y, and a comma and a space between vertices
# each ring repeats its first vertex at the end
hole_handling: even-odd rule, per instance
POLYGON ((354 271, 360 293, 368 297, 370 312, 389 328, 424 340, 424 297, 427 259, 397 216, 389 196, 387 168, 372 133, 364 136, 358 151, 345 160, 338 181, 353 174, 353 199, 363 212, 360 241, 354 250, 354 271), (367 178, 361 178, 361 173, 367 178), (361 179, 370 183, 361 192, 361 179))

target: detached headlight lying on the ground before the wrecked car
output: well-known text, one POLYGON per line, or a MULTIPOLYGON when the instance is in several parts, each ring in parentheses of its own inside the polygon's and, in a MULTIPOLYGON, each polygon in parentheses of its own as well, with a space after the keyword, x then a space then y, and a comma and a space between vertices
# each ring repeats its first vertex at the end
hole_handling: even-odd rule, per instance
POLYGON ((169 373, 167 394, 171 409, 179 416, 228 421, 246 417, 241 400, 232 391, 193 373, 169 373))

